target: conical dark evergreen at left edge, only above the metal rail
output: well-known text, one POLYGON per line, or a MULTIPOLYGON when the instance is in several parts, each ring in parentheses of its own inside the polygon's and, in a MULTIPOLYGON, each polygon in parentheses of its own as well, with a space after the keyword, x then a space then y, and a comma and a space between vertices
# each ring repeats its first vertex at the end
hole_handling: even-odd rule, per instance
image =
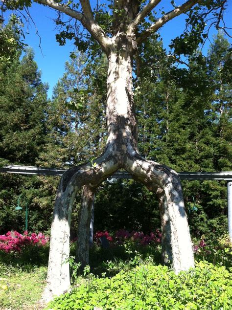
POLYGON ((45 142, 46 85, 28 49, 1 71, 0 154, 11 163, 35 164, 45 142))

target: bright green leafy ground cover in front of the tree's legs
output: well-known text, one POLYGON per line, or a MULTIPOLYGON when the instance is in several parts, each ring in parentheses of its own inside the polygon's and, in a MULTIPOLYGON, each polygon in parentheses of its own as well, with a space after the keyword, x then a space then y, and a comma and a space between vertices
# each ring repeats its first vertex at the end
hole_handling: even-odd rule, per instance
POLYGON ((112 278, 87 276, 86 284, 57 297, 47 309, 231 309, 232 280, 224 266, 196 263, 179 275, 166 266, 140 264, 112 278))

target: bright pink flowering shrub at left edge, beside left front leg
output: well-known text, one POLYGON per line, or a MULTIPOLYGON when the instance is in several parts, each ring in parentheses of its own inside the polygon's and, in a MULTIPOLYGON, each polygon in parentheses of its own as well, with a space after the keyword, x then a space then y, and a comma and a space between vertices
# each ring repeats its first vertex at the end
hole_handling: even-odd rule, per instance
POLYGON ((17 231, 8 231, 5 235, 0 235, 0 250, 5 253, 21 252, 23 248, 30 245, 43 246, 49 238, 42 233, 32 233, 30 236, 27 231, 23 235, 17 231))

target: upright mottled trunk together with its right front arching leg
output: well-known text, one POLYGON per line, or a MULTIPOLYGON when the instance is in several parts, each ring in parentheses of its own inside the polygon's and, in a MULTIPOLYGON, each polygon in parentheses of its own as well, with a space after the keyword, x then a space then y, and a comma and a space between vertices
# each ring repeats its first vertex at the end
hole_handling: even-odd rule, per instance
MULTIPOLYGON (((132 91, 133 37, 118 34, 108 56, 107 126, 111 152, 119 167, 146 186, 157 188, 162 218, 162 258, 176 273, 194 267, 193 250, 178 174, 143 159, 137 150, 132 91)), ((83 262, 84 263, 84 262, 83 262)))

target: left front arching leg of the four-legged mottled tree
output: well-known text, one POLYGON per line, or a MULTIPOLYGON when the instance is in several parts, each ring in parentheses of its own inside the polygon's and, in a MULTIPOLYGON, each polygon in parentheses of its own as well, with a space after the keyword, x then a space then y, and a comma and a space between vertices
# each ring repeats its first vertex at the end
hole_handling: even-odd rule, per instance
MULTIPOLYGON (((94 165, 77 166, 68 170, 61 178, 55 201, 51 225, 50 251, 46 288, 42 302, 50 301, 53 296, 61 295, 70 289, 70 221, 73 201, 78 189, 85 184, 97 186, 118 169, 117 160, 109 152, 99 157, 94 165)), ((85 193, 92 191, 84 187, 85 193)), ((83 203, 85 205, 85 201, 83 203)), ((89 234, 88 234, 89 237, 89 234)))

